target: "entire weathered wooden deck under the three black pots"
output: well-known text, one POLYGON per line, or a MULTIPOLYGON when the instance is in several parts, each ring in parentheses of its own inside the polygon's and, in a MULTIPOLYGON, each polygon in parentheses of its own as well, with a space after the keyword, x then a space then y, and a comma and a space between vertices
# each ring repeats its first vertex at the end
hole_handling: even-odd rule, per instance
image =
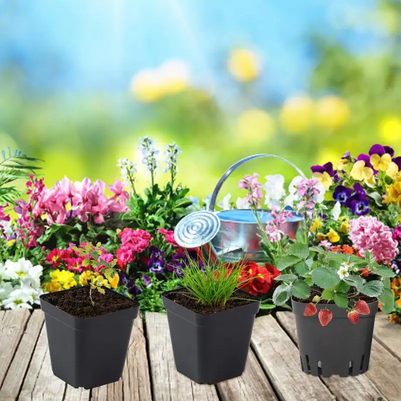
MULTIPOLYGON (((177 373, 164 314, 135 320, 122 379, 92 390, 55 377, 42 311, 0 311, 0 400, 49 401, 400 401, 401 325, 378 315, 370 369, 356 377, 319 378, 299 367, 291 312, 255 321, 247 367, 217 385, 177 373)), ((233 350, 234 351, 234 350, 233 350)))

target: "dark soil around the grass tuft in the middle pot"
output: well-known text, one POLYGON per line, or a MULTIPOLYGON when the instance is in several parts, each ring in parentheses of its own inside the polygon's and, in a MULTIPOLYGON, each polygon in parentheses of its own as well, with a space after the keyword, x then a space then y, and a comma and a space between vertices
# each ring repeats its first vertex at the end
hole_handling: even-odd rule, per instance
POLYGON ((232 297, 238 297, 241 299, 229 299, 226 305, 222 307, 212 307, 206 306, 200 302, 197 302, 195 299, 189 298, 188 295, 184 294, 184 292, 187 292, 187 290, 185 288, 180 288, 177 291, 170 292, 169 294, 165 295, 165 297, 195 313, 200 313, 202 315, 210 315, 212 313, 221 312, 227 309, 233 309, 237 306, 246 305, 251 302, 256 302, 253 295, 240 291, 235 291, 232 297))

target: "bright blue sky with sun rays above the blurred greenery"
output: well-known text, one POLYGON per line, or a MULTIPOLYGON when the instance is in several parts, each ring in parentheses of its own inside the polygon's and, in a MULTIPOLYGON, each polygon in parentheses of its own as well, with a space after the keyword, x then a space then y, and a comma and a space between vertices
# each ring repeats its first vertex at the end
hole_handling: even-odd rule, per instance
POLYGON ((185 60, 199 86, 222 85, 236 46, 263 57, 263 90, 305 89, 312 31, 355 51, 372 38, 343 29, 373 0, 0 0, 0 68, 22 65, 31 89, 122 92, 142 68, 185 60))

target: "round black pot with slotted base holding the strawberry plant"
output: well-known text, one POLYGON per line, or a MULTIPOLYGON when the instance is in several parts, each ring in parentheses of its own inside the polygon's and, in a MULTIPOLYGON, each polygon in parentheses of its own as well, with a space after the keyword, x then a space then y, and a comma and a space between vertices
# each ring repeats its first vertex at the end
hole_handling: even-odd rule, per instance
POLYGON ((368 305, 369 315, 359 315, 358 323, 353 324, 348 320, 345 309, 335 304, 317 304, 318 312, 326 306, 333 312, 333 319, 323 327, 318 313, 306 317, 303 315, 306 304, 292 300, 301 367, 305 373, 346 377, 356 376, 368 369, 377 301, 368 305))

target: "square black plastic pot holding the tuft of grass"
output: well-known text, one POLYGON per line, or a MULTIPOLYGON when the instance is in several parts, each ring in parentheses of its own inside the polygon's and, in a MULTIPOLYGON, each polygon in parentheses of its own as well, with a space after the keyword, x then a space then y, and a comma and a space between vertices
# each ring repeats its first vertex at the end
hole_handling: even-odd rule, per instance
POLYGON ((165 297, 175 291, 164 292, 162 299, 177 371, 200 384, 241 376, 260 298, 251 295, 251 303, 204 315, 165 297))

